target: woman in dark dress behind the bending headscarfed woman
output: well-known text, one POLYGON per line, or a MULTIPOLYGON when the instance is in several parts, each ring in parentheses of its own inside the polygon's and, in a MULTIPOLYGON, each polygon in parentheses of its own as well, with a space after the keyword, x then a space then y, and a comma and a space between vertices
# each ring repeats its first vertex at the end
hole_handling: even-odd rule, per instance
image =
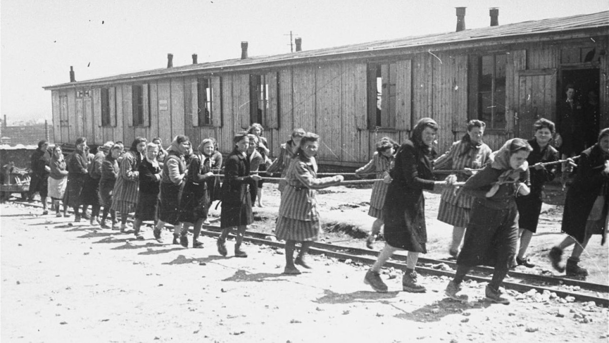
POLYGON ((535 129, 535 137, 528 141, 533 151, 527 158, 530 173, 530 193, 529 195, 516 197, 520 240, 515 265, 524 265, 527 268, 535 267, 535 264, 526 257, 526 252, 533 233, 537 232, 537 223, 539 222, 543 200, 543 185, 554 179, 556 168, 556 165, 544 167, 543 164, 558 161, 558 151, 549 145, 554 134, 554 123, 541 118, 535 121, 533 128, 535 129))

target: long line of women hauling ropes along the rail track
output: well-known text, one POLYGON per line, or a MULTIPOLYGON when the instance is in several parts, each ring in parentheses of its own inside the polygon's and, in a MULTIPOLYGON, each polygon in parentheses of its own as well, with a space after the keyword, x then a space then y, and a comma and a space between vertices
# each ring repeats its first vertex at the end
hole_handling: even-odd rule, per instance
MULTIPOLYGON (((463 300, 465 297, 459 292, 466 273, 475 265, 486 264, 495 267, 493 279, 485 289, 486 297, 497 303, 509 303, 499 289, 507 271, 514 265, 533 266, 526 258, 526 250, 537 229, 544 182, 554 178, 557 167, 552 162, 558 160, 558 153, 549 144, 554 123, 540 119, 534 125, 533 139, 510 139, 495 152, 482 142, 484 122, 471 120, 466 129, 461 140, 437 157, 434 142, 438 125, 431 118, 423 118, 402 145, 389 138, 379 140, 371 161, 356 171, 356 175, 373 173, 377 178, 368 212, 375 222, 367 245, 372 247, 383 226, 385 245, 364 278, 375 291, 387 292, 379 272, 396 250, 408 252, 402 280, 404 291, 426 291, 415 272, 418 256, 427 252, 423 190, 438 187, 442 188, 438 220, 453 226, 449 253, 457 259, 456 276, 445 291, 448 297, 463 300), (437 181, 434 173, 442 170, 448 176, 437 181)), ((336 186, 343 176, 317 177, 318 135, 294 129, 290 139, 281 145, 278 158, 270 163, 269 149, 261 134, 262 127, 253 125, 249 131, 234 135, 234 148, 225 162, 219 197, 213 195, 218 193, 217 175, 213 171, 222 165, 222 155, 213 139, 203 140, 194 152, 184 135, 175 137, 167 151, 142 137, 137 137, 124 154, 121 145, 108 142, 100 148, 99 156, 92 157, 93 162, 84 154, 85 139, 79 139, 77 150, 68 161, 67 198, 76 201, 71 205, 79 220, 82 215, 76 200, 78 192, 88 189, 88 182, 96 182, 97 211, 104 206, 102 226, 108 213, 115 226, 113 212, 118 211, 120 229, 124 231, 127 214, 135 211, 134 231, 138 239, 142 238, 141 223, 156 220, 155 239, 161 240, 161 228, 170 224, 174 226, 174 244, 185 247, 186 229, 194 226, 195 248, 202 247, 198 238, 211 201, 219 198, 222 233, 217 239, 217 250, 220 255, 228 254, 227 236, 236 229, 234 256, 247 257, 242 240, 247 225, 253 222, 252 205, 256 198, 262 206, 263 178, 252 171, 265 168, 267 172, 281 171, 278 187, 281 203, 275 233, 277 239, 286 241, 284 273, 300 274, 297 265, 312 267, 306 256, 320 231, 315 190, 336 186), (160 159, 160 154, 165 157, 160 159), (96 159, 102 162, 94 162, 96 159), (98 170, 97 175, 93 175, 93 170, 98 170), (300 251, 294 258, 298 243, 300 251)), ((567 162, 574 164, 572 159, 567 162)), ((59 191, 65 188, 62 179, 66 175, 66 162, 58 146, 53 150, 50 170, 49 195, 56 204, 62 198, 59 191)), ((562 230, 570 236, 552 248, 549 255, 555 268, 565 269, 561 264, 563 249, 576 244, 566 270, 569 274, 585 275, 585 269, 577 262, 591 234, 607 230, 608 198, 609 128, 602 130, 598 142, 579 157, 576 181, 567 193, 562 224, 562 230)), ((94 206, 93 201, 90 203, 94 206)), ((94 217, 91 223, 94 224, 94 217)))

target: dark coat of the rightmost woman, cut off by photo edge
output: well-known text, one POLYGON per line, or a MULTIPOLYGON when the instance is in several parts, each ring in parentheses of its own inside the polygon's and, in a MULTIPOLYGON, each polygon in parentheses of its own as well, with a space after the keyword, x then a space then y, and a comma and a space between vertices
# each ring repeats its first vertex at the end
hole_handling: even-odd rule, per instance
MULTIPOLYGON (((561 231, 582 243, 586 236, 586 222, 594 201, 599 195, 609 199, 609 176, 602 173, 609 155, 603 154, 595 144, 580 154, 577 174, 567 190, 561 231), (602 194, 600 192, 603 192, 602 194)), ((607 206, 605 206, 605 211, 607 206)))

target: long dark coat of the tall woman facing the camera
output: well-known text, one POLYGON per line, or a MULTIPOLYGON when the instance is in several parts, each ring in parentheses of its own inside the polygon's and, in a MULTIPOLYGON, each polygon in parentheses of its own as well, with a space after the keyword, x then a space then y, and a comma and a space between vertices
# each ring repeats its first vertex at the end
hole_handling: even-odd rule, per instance
POLYGON ((427 252, 423 189, 434 189, 432 154, 410 140, 396 153, 395 167, 390 171, 393 180, 383 207, 384 237, 392 247, 427 252))

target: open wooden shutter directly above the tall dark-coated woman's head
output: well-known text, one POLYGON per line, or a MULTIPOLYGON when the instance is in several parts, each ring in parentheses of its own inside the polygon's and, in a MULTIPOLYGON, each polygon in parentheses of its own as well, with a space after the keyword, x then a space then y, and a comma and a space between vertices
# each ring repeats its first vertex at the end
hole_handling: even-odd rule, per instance
POLYGON ((410 118, 412 117, 410 102, 412 101, 412 63, 411 60, 401 60, 397 63, 396 80, 396 114, 395 128, 398 130, 410 130, 410 118))

